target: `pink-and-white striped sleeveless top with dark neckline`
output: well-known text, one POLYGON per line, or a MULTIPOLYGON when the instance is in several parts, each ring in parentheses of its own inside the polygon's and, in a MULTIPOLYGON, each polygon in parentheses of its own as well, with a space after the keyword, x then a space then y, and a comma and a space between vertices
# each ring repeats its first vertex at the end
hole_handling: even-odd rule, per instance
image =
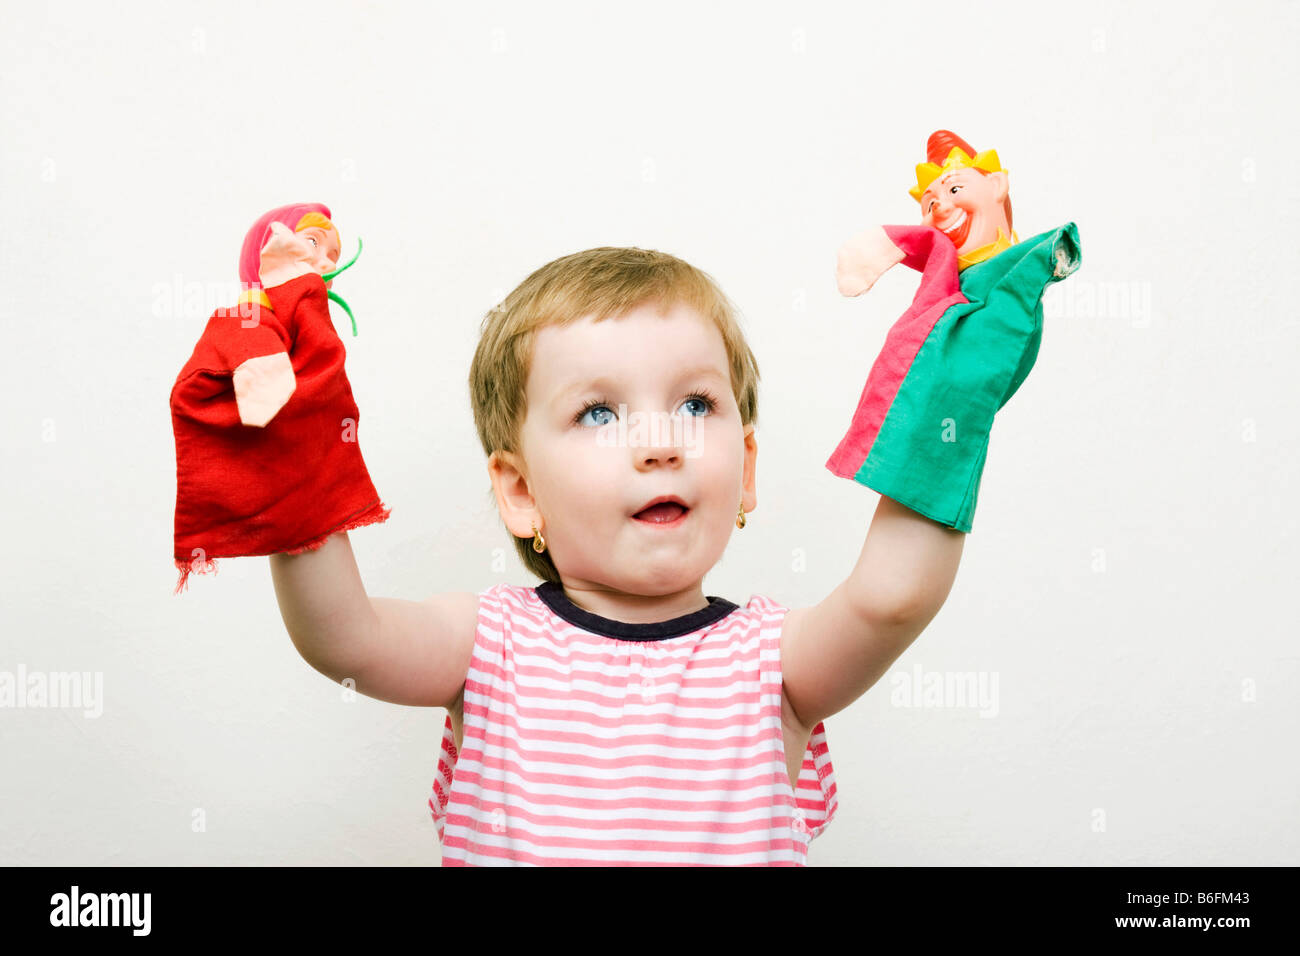
POLYGON ((442 865, 805 865, 837 797, 823 723, 790 787, 789 609, 708 602, 630 624, 549 581, 480 592, 429 797, 442 865))

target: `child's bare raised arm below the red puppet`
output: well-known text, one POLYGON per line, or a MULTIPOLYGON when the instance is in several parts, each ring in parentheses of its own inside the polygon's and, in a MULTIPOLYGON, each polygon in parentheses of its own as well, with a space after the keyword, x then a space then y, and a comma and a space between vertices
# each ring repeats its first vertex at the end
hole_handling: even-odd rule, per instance
POLYGON ((272 554, 270 576, 298 653, 367 697, 454 709, 465 685, 478 596, 368 597, 347 532, 313 551, 272 554))

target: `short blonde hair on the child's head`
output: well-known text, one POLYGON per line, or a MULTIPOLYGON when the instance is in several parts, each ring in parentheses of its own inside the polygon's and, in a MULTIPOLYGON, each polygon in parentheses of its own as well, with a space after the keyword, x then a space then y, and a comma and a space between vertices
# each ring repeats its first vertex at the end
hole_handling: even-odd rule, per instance
MULTIPOLYGON (((601 246, 547 263, 484 316, 469 365, 469 402, 484 453, 520 454, 528 411, 524 386, 538 329, 568 325, 588 315, 603 321, 647 302, 658 302, 662 312, 679 303, 689 306, 718 326, 741 425, 757 424, 758 362, 745 342, 736 307, 712 277, 667 252, 601 246)), ((515 549, 529 571, 560 583, 550 551, 538 554, 528 537, 516 537, 515 549)))

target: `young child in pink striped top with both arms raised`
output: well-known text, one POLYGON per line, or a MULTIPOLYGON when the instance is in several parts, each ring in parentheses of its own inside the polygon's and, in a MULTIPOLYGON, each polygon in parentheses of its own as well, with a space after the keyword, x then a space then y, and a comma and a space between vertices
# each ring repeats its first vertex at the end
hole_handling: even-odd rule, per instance
POLYGON ((881 498, 811 607, 706 596, 758 505, 758 367, 712 280, 593 248, 491 311, 469 375, 499 514, 543 583, 368 598, 346 533, 272 555, 332 679, 448 710, 443 865, 802 865, 837 795, 823 721, 948 596, 965 535, 881 498))

